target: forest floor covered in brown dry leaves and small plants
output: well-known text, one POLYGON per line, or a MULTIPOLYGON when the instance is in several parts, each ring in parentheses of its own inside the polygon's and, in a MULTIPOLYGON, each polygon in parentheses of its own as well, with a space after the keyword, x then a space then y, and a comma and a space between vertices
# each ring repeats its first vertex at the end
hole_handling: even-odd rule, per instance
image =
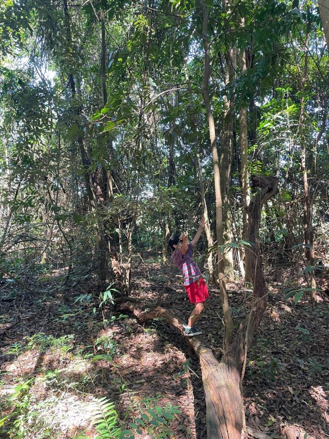
MULTIPOLYGON (((166 273, 157 255, 136 258, 131 296, 141 309, 160 296, 186 321, 192 308, 182 280, 174 273, 162 294, 166 273)), ((119 313, 105 313, 105 328, 101 313, 94 313, 99 292, 92 283, 65 289, 61 277, 55 270, 37 286, 30 283, 34 293, 25 292, 23 300, 16 285, 0 285, 0 437, 94 437, 95 398, 107 397, 118 414, 114 426, 135 438, 206 438, 201 370, 184 337, 161 320, 141 326, 119 313)), ((245 437, 325 439, 328 301, 319 296, 315 309, 306 294, 297 304, 286 301, 280 284, 270 282, 267 311, 248 352, 245 437)), ((209 290, 198 326, 220 356, 220 295, 215 286, 209 290)), ((252 292, 239 282, 229 283, 228 291, 238 325, 252 292)))

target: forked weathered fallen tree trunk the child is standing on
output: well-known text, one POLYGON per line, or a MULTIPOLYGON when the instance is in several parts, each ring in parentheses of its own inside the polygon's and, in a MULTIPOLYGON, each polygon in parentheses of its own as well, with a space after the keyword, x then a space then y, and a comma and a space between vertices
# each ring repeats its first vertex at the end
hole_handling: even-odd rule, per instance
MULTIPOLYGON (((272 177, 253 176, 252 184, 260 190, 248 207, 247 239, 254 243, 248 249, 246 258, 253 281, 253 303, 249 316, 240 324, 230 348, 218 359, 208 343, 202 338, 186 340, 200 359, 202 381, 207 408, 207 437, 209 439, 240 439, 242 432, 242 400, 240 377, 247 358, 247 349, 259 325, 267 305, 267 285, 258 250, 258 232, 261 209, 265 201, 277 192, 277 180, 272 177)), ((130 310, 140 323, 160 318, 177 328, 183 334, 182 321, 166 309, 155 307, 142 312, 131 302, 122 303, 120 310, 130 310)))

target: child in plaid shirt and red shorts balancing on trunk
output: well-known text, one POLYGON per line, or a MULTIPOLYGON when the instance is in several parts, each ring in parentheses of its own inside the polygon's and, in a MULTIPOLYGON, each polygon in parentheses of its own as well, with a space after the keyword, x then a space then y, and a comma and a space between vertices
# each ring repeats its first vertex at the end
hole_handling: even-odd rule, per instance
POLYGON ((192 249, 200 239, 205 220, 202 218, 192 242, 188 242, 188 236, 184 233, 176 233, 169 239, 168 245, 173 250, 172 261, 179 268, 184 277, 184 286, 188 298, 195 305, 187 325, 184 325, 184 334, 193 337, 202 334, 200 329, 194 326, 196 320, 205 309, 206 299, 209 298, 205 280, 202 277, 199 267, 192 259, 192 249))

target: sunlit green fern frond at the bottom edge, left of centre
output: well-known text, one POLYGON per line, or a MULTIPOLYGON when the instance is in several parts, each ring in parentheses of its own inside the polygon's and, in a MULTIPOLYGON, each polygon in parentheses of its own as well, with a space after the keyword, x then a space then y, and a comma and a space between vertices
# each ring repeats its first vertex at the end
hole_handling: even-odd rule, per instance
POLYGON ((95 400, 93 424, 100 439, 114 439, 121 435, 115 405, 106 397, 95 400))

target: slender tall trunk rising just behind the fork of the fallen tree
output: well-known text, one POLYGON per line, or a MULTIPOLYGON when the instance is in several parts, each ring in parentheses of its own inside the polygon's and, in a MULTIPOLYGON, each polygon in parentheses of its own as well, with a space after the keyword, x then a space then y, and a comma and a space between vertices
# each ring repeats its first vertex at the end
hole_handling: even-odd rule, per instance
POLYGON ((205 67, 203 72, 202 81, 202 95, 204 104, 207 111, 209 134, 213 154, 213 178, 215 183, 215 204, 216 204, 216 239, 217 239, 217 271, 218 281, 221 293, 222 309, 224 315, 224 321, 226 326, 225 334, 225 346, 228 348, 232 342, 233 337, 233 321, 231 310, 229 307, 229 300, 227 297, 225 274, 224 274, 224 261, 220 247, 223 245, 223 202, 220 185, 220 173, 219 173, 219 161, 216 143, 215 124, 213 120, 213 111, 210 104, 209 96, 209 77, 210 77, 210 44, 207 38, 208 34, 208 10, 203 0, 198 0, 198 4, 203 14, 202 21, 202 40, 205 50, 205 67))

